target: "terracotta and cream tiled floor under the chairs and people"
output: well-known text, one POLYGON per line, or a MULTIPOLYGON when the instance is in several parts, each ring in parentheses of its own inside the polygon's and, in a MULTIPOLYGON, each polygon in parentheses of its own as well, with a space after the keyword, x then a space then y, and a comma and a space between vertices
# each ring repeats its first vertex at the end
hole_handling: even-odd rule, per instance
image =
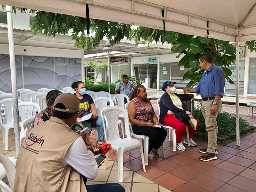
MULTIPOLYGON (((158 108, 152 100, 155 112, 158 108)), ((223 105, 224 111, 235 113, 235 106, 223 105)), ((247 118, 247 107, 240 107, 240 116, 250 124, 256 124, 256 116, 247 118)), ((121 131, 120 131, 121 133, 121 131)), ((9 131, 9 148, 4 150, 2 134, 0 134, 0 154, 15 156, 14 134, 9 131)), ((165 158, 159 150, 160 158, 142 169, 139 149, 134 149, 131 156, 124 155, 124 181, 120 183, 126 192, 255 192, 256 191, 256 133, 240 139, 241 146, 231 142, 226 146, 218 145, 218 159, 202 162, 198 159, 202 154, 199 148, 207 146, 207 142, 195 140, 197 147, 188 147, 187 151, 172 151, 172 142, 168 136, 164 142, 165 158)), ((110 151, 108 168, 100 167, 98 176, 88 180, 87 184, 118 182, 117 154, 110 151)))

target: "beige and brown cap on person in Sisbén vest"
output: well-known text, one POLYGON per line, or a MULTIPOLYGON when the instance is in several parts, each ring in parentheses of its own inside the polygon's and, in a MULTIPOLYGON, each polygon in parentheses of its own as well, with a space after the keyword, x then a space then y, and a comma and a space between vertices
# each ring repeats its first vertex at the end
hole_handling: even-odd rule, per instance
POLYGON ((75 113, 77 111, 81 112, 78 97, 71 93, 60 94, 54 101, 53 109, 56 111, 62 111, 66 113, 75 113), (55 105, 57 103, 62 103, 66 109, 56 108, 55 105))

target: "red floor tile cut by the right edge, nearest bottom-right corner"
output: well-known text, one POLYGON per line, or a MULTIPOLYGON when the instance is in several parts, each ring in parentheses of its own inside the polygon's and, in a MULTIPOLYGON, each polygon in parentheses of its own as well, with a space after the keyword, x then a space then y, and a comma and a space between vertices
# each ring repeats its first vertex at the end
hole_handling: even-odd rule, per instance
POLYGON ((256 189, 255 181, 244 178, 242 176, 236 176, 234 179, 230 180, 228 184, 248 192, 255 192, 256 189))

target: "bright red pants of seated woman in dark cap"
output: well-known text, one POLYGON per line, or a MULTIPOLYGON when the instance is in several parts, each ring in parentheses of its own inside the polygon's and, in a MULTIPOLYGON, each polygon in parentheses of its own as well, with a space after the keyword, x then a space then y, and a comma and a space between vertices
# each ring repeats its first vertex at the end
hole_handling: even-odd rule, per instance
MULTIPOLYGON (((196 130, 197 130, 199 127, 199 121, 196 118, 194 118, 194 119, 197 121, 197 124, 196 124, 196 130)), ((174 114, 166 115, 164 117, 164 124, 176 129, 175 130, 176 142, 177 143, 182 142, 182 136, 186 132, 185 124, 180 122, 177 118, 175 118, 174 114)), ((190 124, 188 124, 188 134, 189 134, 190 139, 194 137, 196 130, 194 130, 193 127, 190 124)), ((187 136, 186 136, 186 138, 187 138, 187 136)))

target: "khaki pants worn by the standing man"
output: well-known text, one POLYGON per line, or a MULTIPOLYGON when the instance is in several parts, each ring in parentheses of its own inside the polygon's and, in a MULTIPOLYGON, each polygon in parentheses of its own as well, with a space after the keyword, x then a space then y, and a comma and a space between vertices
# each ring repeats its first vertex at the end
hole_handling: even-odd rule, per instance
POLYGON ((207 100, 207 101, 202 100, 202 114, 205 119, 205 126, 208 134, 207 152, 209 153, 215 153, 215 149, 217 148, 218 126, 217 126, 216 118, 222 106, 222 101, 219 100, 217 105, 217 113, 212 114, 211 113, 212 101, 213 100, 207 100))

